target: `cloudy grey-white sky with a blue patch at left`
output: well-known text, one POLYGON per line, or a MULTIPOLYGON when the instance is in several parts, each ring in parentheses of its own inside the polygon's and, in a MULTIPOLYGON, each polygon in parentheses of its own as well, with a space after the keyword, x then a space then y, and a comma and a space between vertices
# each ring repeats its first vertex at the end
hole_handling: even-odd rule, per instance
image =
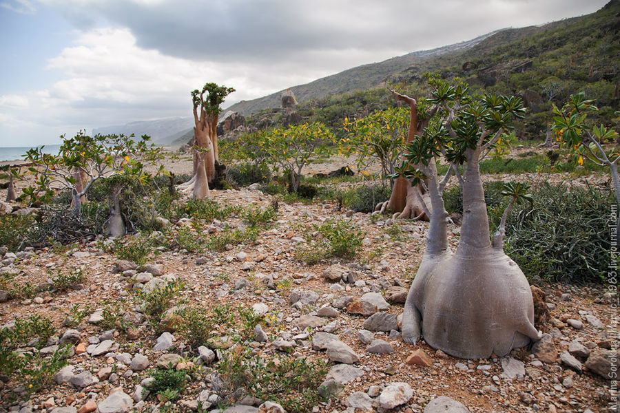
POLYGON ((0 0, 0 147, 136 120, 191 116, 607 0, 0 0))

